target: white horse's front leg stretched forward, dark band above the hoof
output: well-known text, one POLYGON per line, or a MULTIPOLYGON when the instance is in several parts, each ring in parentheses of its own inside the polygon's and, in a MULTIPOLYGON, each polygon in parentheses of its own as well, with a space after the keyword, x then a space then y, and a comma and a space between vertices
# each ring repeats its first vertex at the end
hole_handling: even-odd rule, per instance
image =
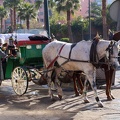
POLYGON ((97 86, 96 86, 96 69, 94 68, 94 72, 90 72, 89 74, 86 74, 87 79, 89 80, 91 87, 95 94, 95 100, 97 101, 97 104, 99 107, 103 107, 102 102, 100 101, 98 94, 97 94, 97 86), (90 74, 91 73, 91 74, 90 74))

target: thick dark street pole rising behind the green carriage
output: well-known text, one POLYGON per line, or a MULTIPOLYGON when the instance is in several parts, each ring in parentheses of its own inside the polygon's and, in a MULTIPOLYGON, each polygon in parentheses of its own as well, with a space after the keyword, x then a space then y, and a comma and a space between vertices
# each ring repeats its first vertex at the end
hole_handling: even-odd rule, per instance
POLYGON ((48 37, 50 38, 50 25, 49 25, 49 11, 48 11, 48 0, 44 0, 44 26, 47 30, 48 37))

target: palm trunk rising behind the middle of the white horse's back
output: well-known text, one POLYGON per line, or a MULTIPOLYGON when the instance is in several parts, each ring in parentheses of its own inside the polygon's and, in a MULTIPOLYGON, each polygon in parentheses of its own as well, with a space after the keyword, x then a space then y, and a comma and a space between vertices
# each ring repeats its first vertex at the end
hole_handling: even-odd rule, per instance
POLYGON ((68 26, 68 35, 69 35, 70 42, 74 42, 73 41, 73 36, 72 36, 72 29, 71 29, 71 13, 70 13, 70 10, 67 11, 67 26, 68 26))

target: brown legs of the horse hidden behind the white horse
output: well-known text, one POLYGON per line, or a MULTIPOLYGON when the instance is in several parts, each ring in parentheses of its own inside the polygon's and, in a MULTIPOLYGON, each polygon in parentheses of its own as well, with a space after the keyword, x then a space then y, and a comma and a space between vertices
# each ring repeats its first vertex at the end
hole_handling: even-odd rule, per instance
MULTIPOLYGON (((112 85, 112 78, 114 75, 114 69, 112 69, 111 67, 109 68, 109 66, 107 64, 103 64, 101 66, 101 68, 104 69, 104 73, 105 73, 105 79, 106 79, 106 95, 107 95, 107 100, 112 100, 114 99, 113 95, 111 94, 111 85, 112 85)), ((75 95, 78 96, 79 94, 83 93, 83 80, 84 76, 83 76, 83 72, 74 72, 73 74, 73 82, 74 82, 74 90, 75 90, 75 95), (82 78, 83 77, 83 78, 82 78), (78 89, 78 86, 80 87, 80 91, 78 89)))

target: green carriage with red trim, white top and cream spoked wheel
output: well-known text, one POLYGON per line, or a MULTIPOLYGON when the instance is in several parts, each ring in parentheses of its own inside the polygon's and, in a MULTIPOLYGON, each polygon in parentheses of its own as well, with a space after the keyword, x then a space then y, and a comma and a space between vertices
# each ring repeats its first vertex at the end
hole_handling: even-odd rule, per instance
MULTIPOLYGON (((45 31, 42 32, 45 33, 45 31)), ((7 58, 4 79, 11 79, 15 93, 22 95, 27 91, 28 82, 33 80, 37 83, 41 76, 39 70, 43 68, 42 49, 49 39, 41 34, 1 34, 5 42, 9 42, 11 36, 16 39, 14 41, 16 53, 7 58)))

